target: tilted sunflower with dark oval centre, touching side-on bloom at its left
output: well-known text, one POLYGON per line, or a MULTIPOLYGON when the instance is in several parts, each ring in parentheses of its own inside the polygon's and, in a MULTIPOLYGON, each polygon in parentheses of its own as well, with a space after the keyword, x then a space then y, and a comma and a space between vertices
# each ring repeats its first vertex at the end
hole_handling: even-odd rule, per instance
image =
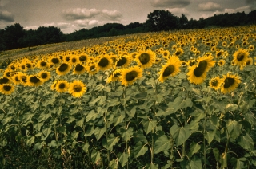
POLYGON ((120 81, 122 82, 122 85, 125 86, 133 85, 134 81, 142 77, 142 73, 143 69, 138 66, 130 67, 129 69, 122 69, 120 81))

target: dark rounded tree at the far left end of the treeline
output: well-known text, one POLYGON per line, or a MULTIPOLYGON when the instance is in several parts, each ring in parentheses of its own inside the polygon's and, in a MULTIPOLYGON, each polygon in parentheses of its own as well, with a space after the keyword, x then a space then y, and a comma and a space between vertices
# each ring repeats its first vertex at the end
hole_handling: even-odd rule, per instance
POLYGON ((19 41, 23 36, 23 27, 19 23, 7 26, 2 35, 2 46, 4 46, 5 50, 18 49, 22 47, 19 41))

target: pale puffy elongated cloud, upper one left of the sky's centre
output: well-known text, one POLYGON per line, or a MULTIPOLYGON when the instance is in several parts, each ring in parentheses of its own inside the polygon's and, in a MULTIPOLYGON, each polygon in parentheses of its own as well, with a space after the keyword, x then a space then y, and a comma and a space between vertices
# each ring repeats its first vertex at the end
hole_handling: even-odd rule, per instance
POLYGON ((62 11, 63 18, 70 21, 85 19, 85 18, 93 18, 98 14, 100 14, 100 11, 96 10, 95 8, 93 9, 76 8, 76 9, 69 9, 69 10, 62 11))

